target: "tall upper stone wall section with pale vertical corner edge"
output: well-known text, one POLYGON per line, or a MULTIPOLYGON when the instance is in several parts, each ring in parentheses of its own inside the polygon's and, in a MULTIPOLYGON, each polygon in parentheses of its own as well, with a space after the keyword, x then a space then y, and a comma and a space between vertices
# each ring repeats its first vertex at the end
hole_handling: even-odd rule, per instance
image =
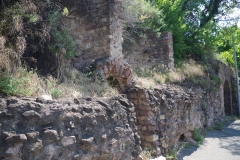
POLYGON ((122 23, 116 14, 121 1, 95 0, 84 3, 89 3, 87 7, 90 11, 77 10, 78 6, 72 0, 63 2, 72 11, 64 18, 64 23, 80 47, 73 58, 73 65, 78 69, 89 66, 92 60, 122 56, 122 23))

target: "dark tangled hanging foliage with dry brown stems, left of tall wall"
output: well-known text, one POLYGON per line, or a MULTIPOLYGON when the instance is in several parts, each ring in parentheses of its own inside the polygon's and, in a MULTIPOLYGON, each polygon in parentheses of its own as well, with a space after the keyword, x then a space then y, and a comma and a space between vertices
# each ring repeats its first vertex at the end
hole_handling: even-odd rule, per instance
POLYGON ((29 68, 38 68, 43 74, 56 72, 59 51, 66 51, 65 58, 77 51, 76 43, 62 24, 62 16, 69 14, 66 7, 52 0, 3 4, 0 35, 6 39, 5 48, 11 49, 29 68))

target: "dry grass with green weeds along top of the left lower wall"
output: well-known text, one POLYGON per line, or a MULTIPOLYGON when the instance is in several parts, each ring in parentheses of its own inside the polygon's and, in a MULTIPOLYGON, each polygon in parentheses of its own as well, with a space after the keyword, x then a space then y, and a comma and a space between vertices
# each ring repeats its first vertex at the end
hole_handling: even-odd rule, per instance
POLYGON ((10 73, 0 72, 0 92, 14 96, 47 94, 53 98, 118 94, 117 89, 109 86, 106 81, 83 74, 73 68, 68 70, 64 83, 59 83, 59 80, 52 76, 40 77, 35 71, 27 71, 21 67, 10 73))

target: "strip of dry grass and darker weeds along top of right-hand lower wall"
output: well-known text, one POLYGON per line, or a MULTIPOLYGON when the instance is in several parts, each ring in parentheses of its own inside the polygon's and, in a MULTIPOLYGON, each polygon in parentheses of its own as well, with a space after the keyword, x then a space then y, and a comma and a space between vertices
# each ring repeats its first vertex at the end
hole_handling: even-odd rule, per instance
POLYGON ((134 72, 138 77, 137 84, 146 88, 158 84, 181 84, 188 87, 205 88, 213 93, 218 93, 221 84, 217 71, 212 71, 211 66, 206 68, 205 64, 198 64, 192 60, 185 61, 170 71, 161 66, 155 66, 137 68, 134 72))

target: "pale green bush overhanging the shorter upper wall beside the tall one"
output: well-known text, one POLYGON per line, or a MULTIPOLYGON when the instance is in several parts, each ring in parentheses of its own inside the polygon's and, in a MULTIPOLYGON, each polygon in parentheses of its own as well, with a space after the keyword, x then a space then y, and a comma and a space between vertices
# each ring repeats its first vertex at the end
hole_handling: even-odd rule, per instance
POLYGON ((145 37, 146 31, 157 31, 164 26, 161 10, 147 0, 126 0, 123 7, 125 11, 120 13, 125 19, 123 48, 134 46, 139 38, 145 37))

